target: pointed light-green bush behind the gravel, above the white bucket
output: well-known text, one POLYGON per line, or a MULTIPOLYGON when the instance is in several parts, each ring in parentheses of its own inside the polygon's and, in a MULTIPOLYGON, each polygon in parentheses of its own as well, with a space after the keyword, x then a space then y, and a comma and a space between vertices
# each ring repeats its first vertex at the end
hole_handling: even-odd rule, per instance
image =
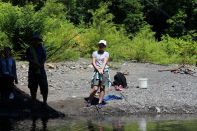
POLYGON ((137 33, 130 47, 133 50, 133 59, 139 62, 169 63, 166 52, 162 50, 154 35, 149 26, 145 26, 137 33))

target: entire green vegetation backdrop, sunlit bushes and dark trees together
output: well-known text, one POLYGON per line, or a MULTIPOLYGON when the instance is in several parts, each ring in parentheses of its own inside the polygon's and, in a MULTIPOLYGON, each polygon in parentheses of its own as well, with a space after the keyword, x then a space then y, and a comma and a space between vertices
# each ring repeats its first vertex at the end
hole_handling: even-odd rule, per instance
POLYGON ((105 39, 114 61, 194 64, 196 21, 196 0, 0 0, 0 47, 23 58, 39 32, 53 61, 90 57, 105 39))

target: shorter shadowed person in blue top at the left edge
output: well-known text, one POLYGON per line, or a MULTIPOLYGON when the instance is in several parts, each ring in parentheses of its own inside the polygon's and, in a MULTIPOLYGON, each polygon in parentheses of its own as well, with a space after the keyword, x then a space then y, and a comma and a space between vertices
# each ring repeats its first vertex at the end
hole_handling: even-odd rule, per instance
POLYGON ((18 84, 16 62, 12 58, 11 48, 5 47, 1 59, 1 95, 2 99, 14 99, 14 82, 18 84))

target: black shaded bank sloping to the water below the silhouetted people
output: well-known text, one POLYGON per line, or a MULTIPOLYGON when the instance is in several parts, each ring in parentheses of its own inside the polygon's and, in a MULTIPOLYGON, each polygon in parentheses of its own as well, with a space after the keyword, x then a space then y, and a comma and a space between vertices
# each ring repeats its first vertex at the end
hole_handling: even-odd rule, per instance
POLYGON ((18 88, 14 88, 14 94, 13 100, 0 101, 0 118, 58 118, 65 116, 38 100, 32 107, 31 97, 18 88))

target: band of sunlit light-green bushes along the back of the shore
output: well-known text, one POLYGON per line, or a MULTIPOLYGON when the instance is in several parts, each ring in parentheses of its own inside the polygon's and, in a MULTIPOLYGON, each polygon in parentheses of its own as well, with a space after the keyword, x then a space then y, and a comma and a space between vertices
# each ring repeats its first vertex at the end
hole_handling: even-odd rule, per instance
POLYGON ((106 50, 113 61, 195 63, 197 44, 188 36, 172 38, 166 35, 157 41, 151 27, 145 25, 131 37, 124 25, 113 23, 109 6, 110 3, 101 3, 98 9, 88 10, 91 22, 75 26, 67 19, 65 6, 53 0, 46 1, 37 11, 32 4, 18 7, 0 2, 0 47, 10 46, 15 54, 23 56, 32 34, 39 32, 47 55, 51 56, 48 61, 90 57, 97 50, 98 41, 105 39, 106 50))

